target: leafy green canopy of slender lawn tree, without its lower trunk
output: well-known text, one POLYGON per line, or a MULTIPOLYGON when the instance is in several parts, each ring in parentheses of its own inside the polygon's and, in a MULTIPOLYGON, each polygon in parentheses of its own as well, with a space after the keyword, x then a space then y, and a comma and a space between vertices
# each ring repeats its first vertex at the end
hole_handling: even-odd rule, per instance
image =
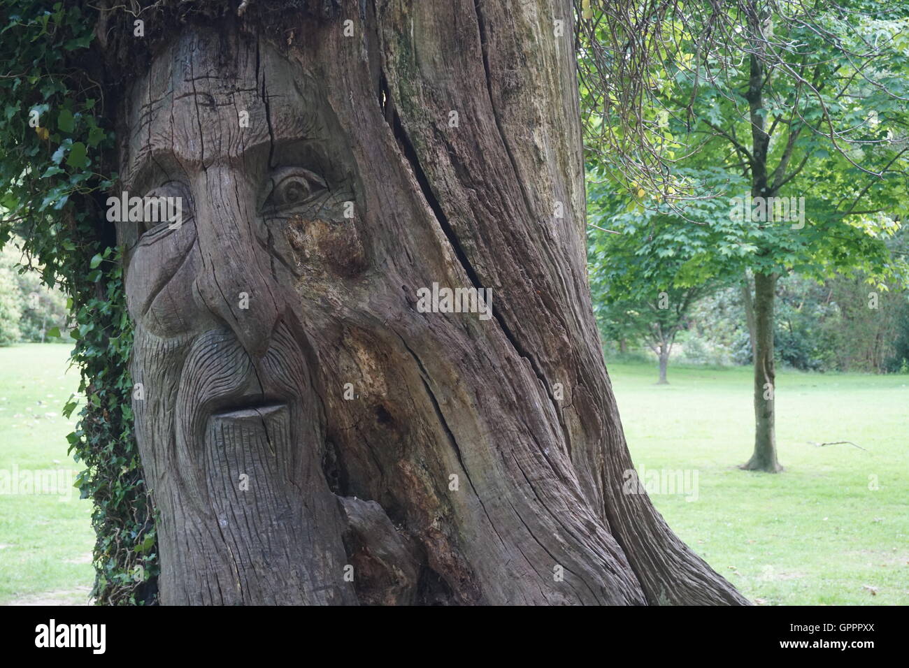
MULTIPOLYGON (((909 10, 854 9, 821 10, 812 19, 827 31, 819 34, 811 22, 787 21, 768 6, 763 32, 741 19, 722 53, 701 64, 677 55, 664 63, 672 85, 659 97, 668 131, 686 144, 703 143, 684 165, 724 165, 744 176, 726 196, 804 197, 804 227, 748 226, 746 265, 755 273, 892 275, 884 242, 909 213, 909 10), (854 55, 869 50, 868 59, 854 55), (764 68, 757 89, 749 79, 754 62, 764 68)), ((696 36, 682 38, 688 55, 696 36)), ((700 188, 714 192, 707 181, 700 188)))

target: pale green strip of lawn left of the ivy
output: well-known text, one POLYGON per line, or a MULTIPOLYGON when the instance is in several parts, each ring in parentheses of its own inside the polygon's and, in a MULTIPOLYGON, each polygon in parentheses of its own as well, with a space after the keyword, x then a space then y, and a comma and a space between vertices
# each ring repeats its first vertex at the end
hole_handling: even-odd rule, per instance
POLYGON ((94 581, 91 505, 72 487, 80 466, 66 454, 66 434, 73 427, 60 414, 79 382, 75 369, 67 371, 71 349, 72 344, 0 348, 3 604, 86 603, 94 581), (26 478, 35 480, 36 471, 44 471, 41 484, 22 486, 26 478), (10 489, 13 474, 20 483, 10 489), (35 487, 42 494, 35 494, 35 487))

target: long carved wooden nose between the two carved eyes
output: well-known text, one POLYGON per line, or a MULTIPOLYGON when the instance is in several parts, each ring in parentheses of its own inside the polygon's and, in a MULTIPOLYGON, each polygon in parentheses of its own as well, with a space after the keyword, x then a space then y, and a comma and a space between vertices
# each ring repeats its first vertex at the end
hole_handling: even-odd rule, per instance
POLYGON ((209 167, 195 188, 202 268, 195 279, 204 308, 230 327, 254 359, 265 355, 281 318, 271 260, 256 230, 255 192, 233 169, 209 167))

